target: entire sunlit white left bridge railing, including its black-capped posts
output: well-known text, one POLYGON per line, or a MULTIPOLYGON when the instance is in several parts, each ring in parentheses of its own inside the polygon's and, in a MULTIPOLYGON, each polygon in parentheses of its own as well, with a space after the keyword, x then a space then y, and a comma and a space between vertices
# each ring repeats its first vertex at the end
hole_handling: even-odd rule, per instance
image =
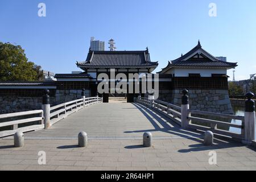
POLYGON ((1 114, 0 138, 14 135, 17 131, 27 132, 48 129, 54 123, 68 117, 68 115, 84 107, 102 102, 102 98, 98 96, 85 98, 83 90, 81 99, 51 107, 48 94, 49 90, 44 90, 42 110, 1 114))

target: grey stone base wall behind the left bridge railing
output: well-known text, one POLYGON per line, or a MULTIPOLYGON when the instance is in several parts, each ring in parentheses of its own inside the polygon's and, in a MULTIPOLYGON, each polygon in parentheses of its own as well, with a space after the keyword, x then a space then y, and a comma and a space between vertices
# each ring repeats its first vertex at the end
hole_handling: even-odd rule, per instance
MULTIPOLYGON (((55 106, 79 99, 81 92, 81 90, 56 90, 55 97, 50 97, 50 104, 55 106)), ((90 97, 90 90, 85 90, 85 96, 90 97)), ((37 110, 41 107, 42 97, 0 96, 0 114, 37 110)))

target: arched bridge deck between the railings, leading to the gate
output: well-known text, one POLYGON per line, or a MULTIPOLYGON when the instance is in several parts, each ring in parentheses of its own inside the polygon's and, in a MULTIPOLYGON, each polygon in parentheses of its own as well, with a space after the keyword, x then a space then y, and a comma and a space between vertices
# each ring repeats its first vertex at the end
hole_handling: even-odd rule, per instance
POLYGON ((134 139, 150 131, 154 137, 201 137, 185 131, 169 118, 139 104, 96 104, 57 122, 49 130, 26 134, 28 138, 76 139, 80 131, 90 138, 134 139))

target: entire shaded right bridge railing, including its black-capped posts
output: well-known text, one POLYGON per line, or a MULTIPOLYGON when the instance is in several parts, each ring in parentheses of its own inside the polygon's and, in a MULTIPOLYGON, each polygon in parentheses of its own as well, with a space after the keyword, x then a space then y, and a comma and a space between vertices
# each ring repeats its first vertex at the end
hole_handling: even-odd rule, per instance
POLYGON ((212 131, 216 135, 241 140, 245 144, 250 144, 255 139, 254 101, 251 100, 254 96, 253 93, 246 94, 248 100, 246 101, 245 116, 191 110, 189 109, 187 93, 188 90, 183 90, 184 96, 182 97, 181 106, 140 97, 135 101, 159 111, 186 129, 212 131), (226 119, 228 121, 225 121, 226 119), (240 124, 238 124, 239 122, 231 123, 232 119, 240 121, 240 124), (239 129, 241 132, 232 132, 229 130, 230 127, 239 129))

